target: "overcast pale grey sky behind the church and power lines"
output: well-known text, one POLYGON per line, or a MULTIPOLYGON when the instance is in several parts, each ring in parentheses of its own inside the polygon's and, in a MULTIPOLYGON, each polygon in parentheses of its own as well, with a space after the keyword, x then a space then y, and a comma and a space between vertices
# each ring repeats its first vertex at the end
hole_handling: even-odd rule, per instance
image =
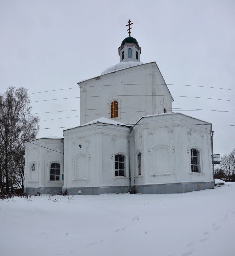
POLYGON ((62 137, 65 128, 44 128, 78 126, 79 98, 34 101, 79 97, 77 82, 119 62, 129 19, 141 61, 156 61, 173 110, 211 122, 214 153, 228 154, 235 126, 222 125, 235 125, 234 0, 0 0, 0 93, 9 86, 29 94, 76 88, 30 95, 39 137, 62 137), (67 112, 42 113, 50 111, 67 112))

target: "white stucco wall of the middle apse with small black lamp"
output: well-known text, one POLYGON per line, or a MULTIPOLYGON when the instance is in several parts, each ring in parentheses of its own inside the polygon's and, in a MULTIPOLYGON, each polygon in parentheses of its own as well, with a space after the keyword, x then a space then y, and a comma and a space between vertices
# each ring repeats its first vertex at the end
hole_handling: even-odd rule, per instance
POLYGON ((129 130, 107 124, 65 130, 64 187, 128 186, 129 130), (125 177, 115 177, 116 154, 125 155, 125 177))

